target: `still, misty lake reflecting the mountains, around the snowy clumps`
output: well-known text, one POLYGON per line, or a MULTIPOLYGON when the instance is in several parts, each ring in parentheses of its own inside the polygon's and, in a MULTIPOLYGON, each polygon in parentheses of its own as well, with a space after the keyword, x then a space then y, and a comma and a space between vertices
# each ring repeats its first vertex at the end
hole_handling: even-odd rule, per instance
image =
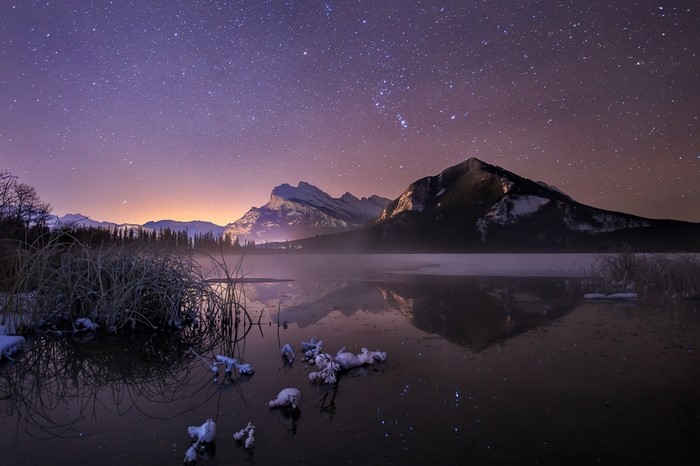
POLYGON ((0 366, 2 464, 181 464, 209 418, 211 465, 700 463, 698 303, 584 302, 596 260, 247 256, 292 281, 237 285, 250 322, 204 359, 189 335, 42 336, 0 366), (312 383, 313 337, 387 358, 312 383), (255 373, 215 381, 215 354, 255 373), (271 410, 285 387, 299 409, 271 410))

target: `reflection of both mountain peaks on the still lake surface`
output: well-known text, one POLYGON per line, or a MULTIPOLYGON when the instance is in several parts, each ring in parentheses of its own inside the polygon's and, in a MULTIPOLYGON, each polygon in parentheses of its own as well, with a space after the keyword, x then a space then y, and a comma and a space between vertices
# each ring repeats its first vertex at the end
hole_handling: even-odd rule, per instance
POLYGON ((418 329, 471 351, 570 312, 581 290, 563 278, 402 276, 400 281, 296 281, 251 286, 249 302, 284 310, 288 324, 314 325, 332 311, 400 311, 418 329))

